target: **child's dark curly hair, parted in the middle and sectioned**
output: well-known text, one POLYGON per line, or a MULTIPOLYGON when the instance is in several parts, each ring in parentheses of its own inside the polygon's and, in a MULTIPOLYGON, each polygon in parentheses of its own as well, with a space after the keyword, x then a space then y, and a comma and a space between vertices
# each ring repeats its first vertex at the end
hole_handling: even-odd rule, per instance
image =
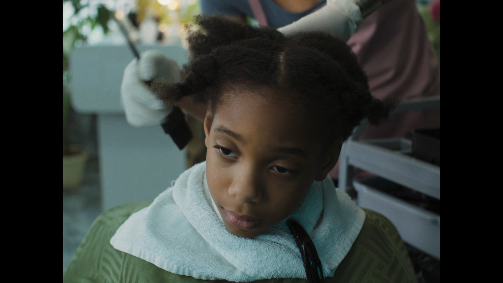
POLYGON ((338 38, 319 32, 285 36, 220 17, 198 16, 196 24, 199 29, 188 37, 185 80, 152 83, 167 105, 191 96, 215 113, 229 88, 270 88, 302 103, 328 140, 347 139, 364 118, 381 123, 396 105, 372 97, 356 55, 338 38))

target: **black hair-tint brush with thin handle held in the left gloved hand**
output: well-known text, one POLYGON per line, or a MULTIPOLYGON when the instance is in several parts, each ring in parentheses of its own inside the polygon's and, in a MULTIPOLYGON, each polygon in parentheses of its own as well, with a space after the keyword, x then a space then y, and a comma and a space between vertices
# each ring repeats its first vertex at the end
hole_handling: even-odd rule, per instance
MULTIPOLYGON (((115 17, 112 12, 110 14, 112 19, 114 19, 114 21, 117 23, 119 29, 126 38, 129 48, 133 52, 134 56, 139 60, 140 53, 129 38, 129 34, 127 33, 126 28, 124 28, 124 25, 115 17)), ((144 83, 150 88, 152 81, 144 81, 144 83)), ((189 125, 185 120, 185 114, 177 106, 173 106, 171 113, 167 115, 162 121, 161 127, 166 134, 169 134, 171 136, 173 142, 175 142, 180 150, 183 150, 193 137, 189 125)))

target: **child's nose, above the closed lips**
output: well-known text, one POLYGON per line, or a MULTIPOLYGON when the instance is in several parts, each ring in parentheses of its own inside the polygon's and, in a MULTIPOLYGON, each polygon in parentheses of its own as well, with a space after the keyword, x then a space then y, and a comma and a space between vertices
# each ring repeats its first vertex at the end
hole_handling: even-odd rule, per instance
POLYGON ((259 203, 264 197, 263 188, 260 183, 259 177, 253 172, 240 172, 235 175, 229 187, 229 195, 241 202, 259 203))

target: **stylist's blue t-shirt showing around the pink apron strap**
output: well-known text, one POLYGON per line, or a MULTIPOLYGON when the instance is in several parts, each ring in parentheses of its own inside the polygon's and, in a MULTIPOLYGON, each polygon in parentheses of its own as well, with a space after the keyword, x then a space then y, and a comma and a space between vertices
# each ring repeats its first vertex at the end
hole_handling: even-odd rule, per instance
MULTIPOLYGON (((326 4, 326 0, 320 0, 304 12, 292 13, 278 6, 273 0, 261 0, 260 2, 267 22, 273 28, 289 25, 326 4)), ((200 3, 203 15, 253 18, 253 12, 247 0, 200 0, 200 3)))

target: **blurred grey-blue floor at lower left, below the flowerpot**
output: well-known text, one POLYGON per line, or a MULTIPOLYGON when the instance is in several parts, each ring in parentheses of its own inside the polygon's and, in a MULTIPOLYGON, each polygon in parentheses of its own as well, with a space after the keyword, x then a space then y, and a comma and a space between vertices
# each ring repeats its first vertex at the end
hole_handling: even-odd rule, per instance
POLYGON ((88 161, 79 187, 63 190, 63 272, 93 221, 101 214, 96 158, 88 161))

